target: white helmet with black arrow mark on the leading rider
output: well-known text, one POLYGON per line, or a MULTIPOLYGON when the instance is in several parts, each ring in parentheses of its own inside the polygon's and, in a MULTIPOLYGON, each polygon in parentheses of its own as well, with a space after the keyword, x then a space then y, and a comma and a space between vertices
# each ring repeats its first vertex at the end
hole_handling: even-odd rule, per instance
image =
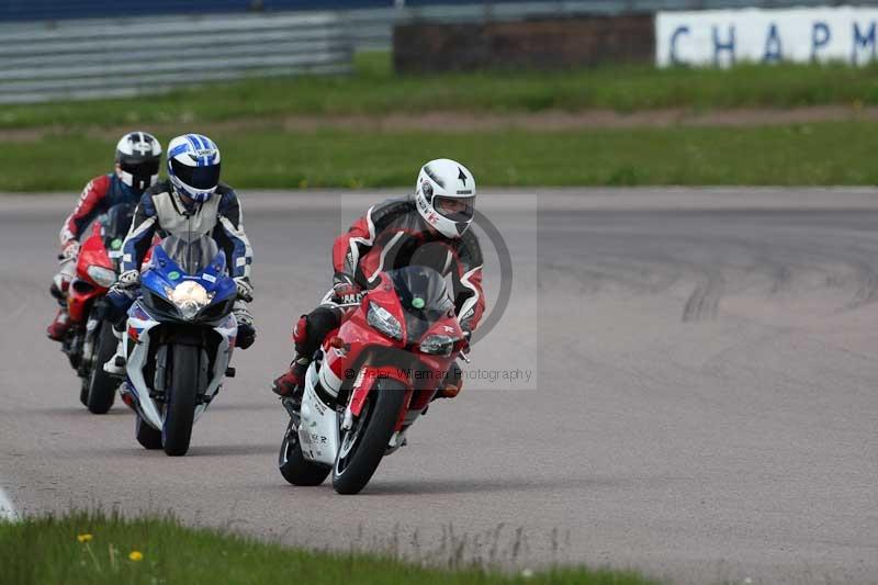
POLYGON ((475 179, 470 169, 448 158, 420 168, 415 202, 424 221, 449 238, 470 227, 475 212, 475 179))

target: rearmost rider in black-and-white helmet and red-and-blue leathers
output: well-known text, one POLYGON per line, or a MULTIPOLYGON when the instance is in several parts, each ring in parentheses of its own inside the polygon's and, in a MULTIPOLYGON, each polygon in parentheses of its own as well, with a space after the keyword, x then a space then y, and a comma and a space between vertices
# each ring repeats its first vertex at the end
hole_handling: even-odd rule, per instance
POLYGON ((88 182, 74 213, 60 233, 60 269, 52 280, 52 295, 61 305, 46 329, 49 339, 63 341, 69 328, 67 289, 76 275, 79 239, 99 215, 119 203, 136 204, 146 189, 158 180, 161 144, 146 132, 131 132, 116 144, 115 170, 88 182))

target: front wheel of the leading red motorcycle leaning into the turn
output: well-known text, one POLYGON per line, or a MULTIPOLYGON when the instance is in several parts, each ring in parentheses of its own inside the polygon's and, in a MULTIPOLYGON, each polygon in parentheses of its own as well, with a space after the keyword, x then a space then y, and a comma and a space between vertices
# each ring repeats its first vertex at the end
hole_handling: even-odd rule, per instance
POLYGON ((333 466, 333 487, 339 494, 357 494, 372 479, 396 428, 406 390, 396 380, 378 380, 353 427, 341 435, 333 466))

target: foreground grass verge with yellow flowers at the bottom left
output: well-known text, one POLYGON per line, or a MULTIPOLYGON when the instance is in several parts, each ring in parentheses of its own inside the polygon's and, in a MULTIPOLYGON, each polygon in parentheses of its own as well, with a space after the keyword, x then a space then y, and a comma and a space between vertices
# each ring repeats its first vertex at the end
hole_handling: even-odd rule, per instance
POLYGON ((0 522, 0 580, 9 585, 655 583, 635 573, 609 570, 555 569, 526 578, 485 567, 428 569, 376 554, 289 549, 185 528, 170 518, 124 520, 93 513, 0 522), (82 541, 85 535, 89 540, 82 541), (135 551, 139 560, 130 558, 135 551))

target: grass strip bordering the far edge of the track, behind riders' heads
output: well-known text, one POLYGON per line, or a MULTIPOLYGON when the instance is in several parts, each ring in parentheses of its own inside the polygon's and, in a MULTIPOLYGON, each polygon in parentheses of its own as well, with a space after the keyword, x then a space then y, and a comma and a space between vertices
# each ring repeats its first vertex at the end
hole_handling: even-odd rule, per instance
MULTIPOLYGON (((878 123, 582 132, 209 133, 240 190, 408 189, 424 161, 465 162, 482 185, 876 184, 878 123)), ((159 136, 167 140, 168 136, 159 136)), ((114 137, 50 134, 0 143, 0 191, 78 192, 111 167, 114 137)))

